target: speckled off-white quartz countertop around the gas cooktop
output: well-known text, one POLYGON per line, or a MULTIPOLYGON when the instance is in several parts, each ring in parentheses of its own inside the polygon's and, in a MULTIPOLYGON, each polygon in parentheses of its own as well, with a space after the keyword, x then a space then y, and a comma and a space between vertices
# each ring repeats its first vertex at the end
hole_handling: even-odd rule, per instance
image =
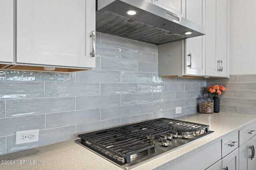
MULTIPOLYGON (((253 115, 224 112, 210 115, 194 113, 182 117, 176 117, 175 119, 209 125, 210 130, 215 131, 215 133, 180 149, 167 153, 164 156, 160 156, 154 160, 137 166, 133 168, 133 170, 164 169, 172 164, 175 164, 176 162, 183 160, 195 152, 206 149, 214 142, 242 129, 248 124, 256 122, 256 116, 253 115)), ((74 140, 1 155, 0 160, 15 160, 15 164, 0 164, 1 170, 121 169, 111 162, 108 162, 108 160, 105 160, 90 150, 78 145, 74 142, 74 140), (16 160, 34 160, 36 164, 18 165, 16 164, 16 160), (44 161, 44 164, 38 164, 38 160, 44 161)))

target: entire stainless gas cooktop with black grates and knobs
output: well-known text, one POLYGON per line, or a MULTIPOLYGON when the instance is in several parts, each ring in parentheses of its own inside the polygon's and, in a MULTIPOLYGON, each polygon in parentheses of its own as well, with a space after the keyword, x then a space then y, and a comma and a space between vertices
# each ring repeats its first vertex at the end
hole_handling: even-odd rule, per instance
POLYGON ((75 142, 128 170, 212 133, 208 125, 160 118, 81 134, 75 142))

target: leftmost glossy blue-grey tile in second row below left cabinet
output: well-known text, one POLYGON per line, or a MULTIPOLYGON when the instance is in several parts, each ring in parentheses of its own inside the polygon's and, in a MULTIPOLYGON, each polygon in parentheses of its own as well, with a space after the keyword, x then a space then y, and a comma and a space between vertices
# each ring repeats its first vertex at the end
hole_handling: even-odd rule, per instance
POLYGON ((0 99, 44 97, 44 82, 0 82, 0 99))

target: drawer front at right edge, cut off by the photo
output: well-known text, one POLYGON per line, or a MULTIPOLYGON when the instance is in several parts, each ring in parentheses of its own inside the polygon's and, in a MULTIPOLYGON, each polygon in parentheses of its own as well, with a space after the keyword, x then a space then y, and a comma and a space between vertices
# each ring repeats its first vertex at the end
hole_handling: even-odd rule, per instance
POLYGON ((254 137, 256 133, 256 123, 252 123, 239 131, 239 146, 243 145, 246 141, 254 137))

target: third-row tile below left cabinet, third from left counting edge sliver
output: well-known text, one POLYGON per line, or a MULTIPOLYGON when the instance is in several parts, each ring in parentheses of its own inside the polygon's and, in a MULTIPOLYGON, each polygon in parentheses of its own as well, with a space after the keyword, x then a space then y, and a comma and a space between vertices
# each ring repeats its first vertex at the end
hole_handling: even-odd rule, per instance
POLYGON ((120 106, 120 94, 76 97, 76 109, 120 106))

